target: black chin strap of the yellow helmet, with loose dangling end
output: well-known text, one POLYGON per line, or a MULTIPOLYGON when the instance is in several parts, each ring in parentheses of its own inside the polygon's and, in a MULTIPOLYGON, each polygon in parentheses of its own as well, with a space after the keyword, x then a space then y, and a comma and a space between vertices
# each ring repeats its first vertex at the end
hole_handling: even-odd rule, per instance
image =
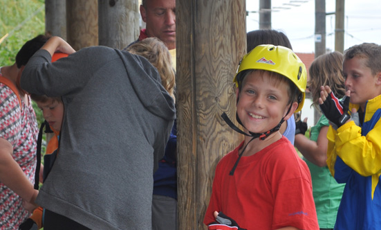
MULTIPOLYGON (((290 110, 291 110, 291 106, 288 108, 287 114, 290 112, 290 110)), ((287 114, 286 114, 286 116, 287 116, 287 114)), ((284 123, 284 117, 283 117, 283 118, 281 118, 281 121, 279 122, 279 124, 277 126, 273 127, 271 130, 268 130, 268 132, 256 133, 256 132, 248 131, 249 132, 249 134, 248 134, 248 133, 240 130, 239 127, 236 127, 236 125, 234 125, 234 123, 232 123, 232 121, 227 116, 227 114, 225 114, 225 112, 223 112, 223 114, 221 114, 221 117, 223 118, 223 121, 225 121, 227 123, 227 125, 229 125, 234 131, 239 132, 240 134, 243 134, 245 136, 251 136, 252 137, 252 139, 250 139, 250 141, 245 145, 245 147, 243 147, 243 150, 239 154, 238 159, 236 159, 236 163, 234 163, 234 166, 233 166, 232 170, 230 170, 229 175, 234 175, 234 171, 236 170, 236 166, 238 166, 239 160, 241 159, 243 152, 245 152, 246 147, 248 147, 248 144, 252 140, 257 139, 257 138, 259 138, 259 140, 261 140, 261 141, 265 140, 266 138, 268 138, 268 136, 270 136, 270 134, 277 132, 281 128, 282 123, 284 123)), ((241 119, 239 119, 239 116, 237 113, 236 113, 236 121, 238 121, 238 123, 240 125, 245 127, 242 124, 241 119)))

